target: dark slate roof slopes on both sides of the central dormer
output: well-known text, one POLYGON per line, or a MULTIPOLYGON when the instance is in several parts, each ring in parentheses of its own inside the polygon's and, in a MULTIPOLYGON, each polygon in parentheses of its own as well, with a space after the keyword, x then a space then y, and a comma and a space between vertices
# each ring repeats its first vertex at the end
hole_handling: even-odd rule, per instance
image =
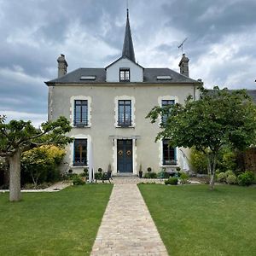
MULTIPOLYGON (((152 84, 177 84, 177 83, 201 83, 194 79, 173 71, 170 68, 144 68, 143 83, 152 84), (172 79, 158 80, 158 76, 171 76, 172 79)), ((58 79, 53 79, 45 84, 113 84, 106 82, 105 68, 79 68, 73 72, 67 73, 58 79), (81 80, 82 76, 96 76, 95 80, 81 80)), ((127 83, 129 84, 129 83, 127 83)), ((139 84, 139 83, 138 83, 139 84)))

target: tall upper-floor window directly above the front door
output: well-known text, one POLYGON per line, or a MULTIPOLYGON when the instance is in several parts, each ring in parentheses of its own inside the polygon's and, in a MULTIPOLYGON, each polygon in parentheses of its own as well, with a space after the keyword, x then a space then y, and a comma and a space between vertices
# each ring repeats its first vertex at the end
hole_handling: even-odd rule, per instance
POLYGON ((131 100, 119 101, 119 126, 131 126, 131 100))

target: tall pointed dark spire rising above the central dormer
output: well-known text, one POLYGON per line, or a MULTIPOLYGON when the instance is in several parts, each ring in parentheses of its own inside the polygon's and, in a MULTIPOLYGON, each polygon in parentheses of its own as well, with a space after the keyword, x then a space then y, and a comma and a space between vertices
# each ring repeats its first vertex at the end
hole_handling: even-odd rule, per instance
POLYGON ((131 27, 129 22, 129 9, 127 9, 126 27, 125 27, 125 39, 123 45, 122 57, 126 57, 135 62, 134 49, 131 38, 131 27))

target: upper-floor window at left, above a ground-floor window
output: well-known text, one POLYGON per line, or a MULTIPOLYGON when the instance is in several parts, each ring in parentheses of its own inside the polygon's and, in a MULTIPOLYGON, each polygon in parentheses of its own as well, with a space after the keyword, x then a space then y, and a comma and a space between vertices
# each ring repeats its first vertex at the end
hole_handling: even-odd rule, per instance
POLYGON ((88 101, 87 100, 74 101, 74 125, 75 126, 88 125, 88 101))

